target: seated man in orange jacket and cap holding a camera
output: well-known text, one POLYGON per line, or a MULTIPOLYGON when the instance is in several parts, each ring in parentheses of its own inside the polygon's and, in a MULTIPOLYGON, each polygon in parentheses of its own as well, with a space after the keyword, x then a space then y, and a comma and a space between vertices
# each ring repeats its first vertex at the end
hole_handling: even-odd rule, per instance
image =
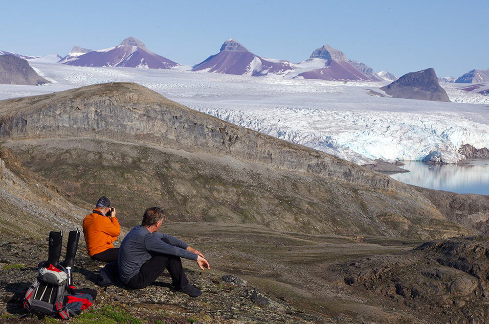
POLYGON ((119 248, 113 242, 121 233, 119 221, 115 217, 115 208, 106 196, 99 198, 93 212, 83 220, 83 234, 87 252, 92 260, 104 262, 117 261, 119 248))

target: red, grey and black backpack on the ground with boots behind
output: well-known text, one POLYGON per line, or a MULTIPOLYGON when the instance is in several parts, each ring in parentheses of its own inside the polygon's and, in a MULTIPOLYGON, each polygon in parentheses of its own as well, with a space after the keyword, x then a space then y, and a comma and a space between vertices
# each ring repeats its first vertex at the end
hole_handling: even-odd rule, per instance
POLYGON ((97 292, 92 289, 77 291, 73 286, 68 285, 64 271, 49 265, 47 268, 39 269, 39 277, 34 280, 24 295, 23 307, 29 311, 25 316, 59 315, 66 320, 70 315, 77 316, 83 309, 89 307, 96 295, 97 292))

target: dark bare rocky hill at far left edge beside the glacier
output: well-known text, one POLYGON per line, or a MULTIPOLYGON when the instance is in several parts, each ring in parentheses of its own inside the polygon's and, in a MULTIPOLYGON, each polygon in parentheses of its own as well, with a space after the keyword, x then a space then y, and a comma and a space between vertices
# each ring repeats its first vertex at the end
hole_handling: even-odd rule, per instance
POLYGON ((14 55, 0 55, 0 83, 38 86, 49 83, 29 63, 14 55))

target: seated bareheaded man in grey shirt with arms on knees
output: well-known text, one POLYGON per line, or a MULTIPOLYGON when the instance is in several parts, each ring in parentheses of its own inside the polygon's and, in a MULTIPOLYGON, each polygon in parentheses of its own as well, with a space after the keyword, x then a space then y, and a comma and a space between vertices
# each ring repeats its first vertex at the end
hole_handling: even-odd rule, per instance
POLYGON ((199 251, 179 239, 158 233, 162 223, 163 209, 148 208, 141 225, 124 237, 119 250, 120 278, 128 286, 140 289, 155 282, 166 268, 177 291, 199 297, 202 292, 188 282, 180 257, 197 261, 202 270, 210 269, 209 263, 199 251))

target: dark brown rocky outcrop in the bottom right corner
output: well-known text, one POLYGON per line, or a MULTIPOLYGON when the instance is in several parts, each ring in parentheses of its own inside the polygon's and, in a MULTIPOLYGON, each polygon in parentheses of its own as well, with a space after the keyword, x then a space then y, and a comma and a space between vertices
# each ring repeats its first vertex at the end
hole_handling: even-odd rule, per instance
POLYGON ((357 296, 376 296, 378 304, 392 310, 375 323, 485 323, 488 255, 488 237, 459 237, 395 255, 338 262, 320 271, 325 280, 343 281, 357 296))

